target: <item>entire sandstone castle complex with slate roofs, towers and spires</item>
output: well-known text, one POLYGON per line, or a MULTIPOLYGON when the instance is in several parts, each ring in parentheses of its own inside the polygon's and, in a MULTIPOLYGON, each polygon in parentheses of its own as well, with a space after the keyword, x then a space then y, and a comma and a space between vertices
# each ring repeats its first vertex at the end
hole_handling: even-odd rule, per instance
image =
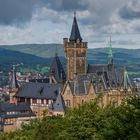
POLYGON ((102 95, 102 106, 119 105, 132 94, 132 85, 125 69, 113 63, 111 41, 107 64, 87 64, 88 43, 80 35, 74 15, 70 38, 64 38, 66 72, 56 54, 50 71, 42 79, 31 79, 20 87, 13 67, 9 86, 10 103, 0 104, 0 129, 12 131, 22 122, 47 115, 62 115, 66 107, 75 108, 102 95))

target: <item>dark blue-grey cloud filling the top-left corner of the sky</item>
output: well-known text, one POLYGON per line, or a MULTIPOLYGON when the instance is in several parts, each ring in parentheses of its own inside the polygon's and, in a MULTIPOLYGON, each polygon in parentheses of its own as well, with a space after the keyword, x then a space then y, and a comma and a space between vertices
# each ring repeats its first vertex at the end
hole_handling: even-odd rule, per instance
POLYGON ((37 3, 37 0, 0 0, 0 24, 29 21, 37 3))

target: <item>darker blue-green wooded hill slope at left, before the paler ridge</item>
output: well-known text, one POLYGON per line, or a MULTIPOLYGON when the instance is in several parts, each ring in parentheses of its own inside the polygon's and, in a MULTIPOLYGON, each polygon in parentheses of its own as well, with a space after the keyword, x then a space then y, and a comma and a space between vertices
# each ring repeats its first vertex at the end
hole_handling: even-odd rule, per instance
POLYGON ((23 63, 25 66, 34 66, 37 64, 48 65, 50 64, 50 59, 0 48, 0 65, 2 68, 9 68, 13 64, 19 63, 23 63))

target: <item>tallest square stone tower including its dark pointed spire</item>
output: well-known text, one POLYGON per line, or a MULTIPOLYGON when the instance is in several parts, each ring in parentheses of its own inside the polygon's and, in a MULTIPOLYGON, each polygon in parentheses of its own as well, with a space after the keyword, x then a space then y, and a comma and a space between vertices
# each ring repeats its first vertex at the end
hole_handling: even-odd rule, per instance
POLYGON ((76 74, 86 73, 87 42, 82 41, 74 13, 71 35, 64 38, 64 51, 67 59, 67 80, 74 80, 76 74))

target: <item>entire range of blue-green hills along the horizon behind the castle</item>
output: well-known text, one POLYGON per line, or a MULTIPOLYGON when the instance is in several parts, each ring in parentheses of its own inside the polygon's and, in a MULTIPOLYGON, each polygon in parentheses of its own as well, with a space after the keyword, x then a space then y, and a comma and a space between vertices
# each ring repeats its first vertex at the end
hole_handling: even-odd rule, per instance
MULTIPOLYGON (((22 44, 1 45, 0 64, 11 65, 14 63, 50 64, 55 53, 64 60, 64 49, 62 44, 22 44)), ((88 49, 88 63, 107 63, 108 48, 88 49)), ((126 66, 131 73, 140 74, 140 49, 113 48, 114 63, 126 66)), ((64 62, 64 61, 63 61, 64 62)))

